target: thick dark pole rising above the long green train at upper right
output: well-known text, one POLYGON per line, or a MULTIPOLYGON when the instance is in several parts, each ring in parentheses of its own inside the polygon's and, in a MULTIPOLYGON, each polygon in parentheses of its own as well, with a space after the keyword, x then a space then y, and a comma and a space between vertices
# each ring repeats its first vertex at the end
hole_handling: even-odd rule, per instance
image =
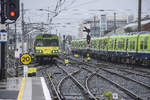
POLYGON ((141 31, 141 6, 142 0, 138 0, 138 32, 141 31))

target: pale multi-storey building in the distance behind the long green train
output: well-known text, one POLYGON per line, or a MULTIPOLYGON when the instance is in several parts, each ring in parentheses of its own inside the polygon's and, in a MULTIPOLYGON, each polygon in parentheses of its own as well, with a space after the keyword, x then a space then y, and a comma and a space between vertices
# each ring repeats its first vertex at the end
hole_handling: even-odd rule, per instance
POLYGON ((84 20, 79 27, 79 37, 86 38, 86 33, 83 32, 84 27, 89 27, 91 37, 100 37, 104 36, 106 33, 113 31, 127 25, 128 23, 133 22, 134 16, 94 16, 91 19, 84 20), (114 22, 115 21, 115 22, 114 22))

